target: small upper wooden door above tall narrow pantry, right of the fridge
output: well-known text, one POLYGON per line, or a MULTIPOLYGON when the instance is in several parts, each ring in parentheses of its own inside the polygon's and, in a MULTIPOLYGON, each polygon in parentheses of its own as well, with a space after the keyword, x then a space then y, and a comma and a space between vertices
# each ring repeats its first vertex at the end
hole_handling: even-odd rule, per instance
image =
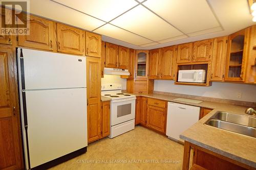
POLYGON ((101 35, 86 32, 86 56, 101 57, 101 35))

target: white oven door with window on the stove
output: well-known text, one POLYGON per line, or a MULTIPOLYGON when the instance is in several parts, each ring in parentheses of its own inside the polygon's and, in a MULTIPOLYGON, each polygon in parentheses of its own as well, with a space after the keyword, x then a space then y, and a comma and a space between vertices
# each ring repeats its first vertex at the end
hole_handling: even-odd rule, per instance
POLYGON ((136 98, 111 101, 111 126, 135 118, 135 101, 136 98))

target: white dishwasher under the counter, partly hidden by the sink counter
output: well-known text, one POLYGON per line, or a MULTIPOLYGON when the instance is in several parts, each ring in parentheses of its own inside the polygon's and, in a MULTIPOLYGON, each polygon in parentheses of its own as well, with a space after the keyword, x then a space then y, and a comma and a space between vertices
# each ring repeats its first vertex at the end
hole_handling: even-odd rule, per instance
POLYGON ((180 134, 198 122, 200 107, 168 102, 166 135, 178 141, 180 134))

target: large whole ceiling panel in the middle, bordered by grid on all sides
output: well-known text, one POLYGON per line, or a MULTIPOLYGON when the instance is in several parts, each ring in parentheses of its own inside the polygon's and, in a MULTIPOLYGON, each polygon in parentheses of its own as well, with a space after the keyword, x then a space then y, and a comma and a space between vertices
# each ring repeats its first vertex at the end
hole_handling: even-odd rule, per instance
POLYGON ((141 5, 119 16, 110 23, 153 41, 182 34, 141 5))

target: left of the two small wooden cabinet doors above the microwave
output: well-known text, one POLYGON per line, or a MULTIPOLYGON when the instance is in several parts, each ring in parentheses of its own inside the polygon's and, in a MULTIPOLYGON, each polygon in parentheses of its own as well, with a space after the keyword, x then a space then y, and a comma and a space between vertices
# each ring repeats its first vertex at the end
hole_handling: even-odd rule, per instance
POLYGON ((191 61, 192 46, 192 42, 178 45, 177 63, 189 63, 191 61))

